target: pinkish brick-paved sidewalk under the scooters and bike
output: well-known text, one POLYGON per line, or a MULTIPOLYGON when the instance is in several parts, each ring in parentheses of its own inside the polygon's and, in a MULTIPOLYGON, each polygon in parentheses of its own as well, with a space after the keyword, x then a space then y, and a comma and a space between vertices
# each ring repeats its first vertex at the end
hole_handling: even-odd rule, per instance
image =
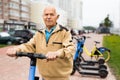
MULTIPOLYGON (((91 38, 87 38, 86 40, 86 46, 90 50, 93 46, 94 40, 96 41, 102 41, 102 36, 99 34, 85 34, 86 36, 89 36, 91 38)), ((100 46, 102 43, 100 44, 100 46)), ((6 56, 5 51, 6 48, 0 49, 0 80, 28 80, 28 72, 29 72, 29 59, 28 58, 10 58, 6 56)), ((86 59, 89 59, 86 55, 84 55, 86 59)), ((85 76, 80 75, 78 72, 76 72, 73 76, 71 76, 71 80, 116 80, 114 75, 110 72, 110 69, 108 67, 109 74, 107 78, 101 79, 98 76, 85 76)), ((37 73, 39 76, 39 74, 37 73)), ((40 79, 41 80, 41 79, 40 79)))

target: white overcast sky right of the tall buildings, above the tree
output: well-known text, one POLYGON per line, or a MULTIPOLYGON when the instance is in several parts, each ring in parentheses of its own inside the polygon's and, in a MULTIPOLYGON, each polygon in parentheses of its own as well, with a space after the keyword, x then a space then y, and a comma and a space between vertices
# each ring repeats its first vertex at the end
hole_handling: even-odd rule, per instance
POLYGON ((83 0, 83 26, 98 27, 109 14, 113 22, 117 22, 119 0, 83 0))

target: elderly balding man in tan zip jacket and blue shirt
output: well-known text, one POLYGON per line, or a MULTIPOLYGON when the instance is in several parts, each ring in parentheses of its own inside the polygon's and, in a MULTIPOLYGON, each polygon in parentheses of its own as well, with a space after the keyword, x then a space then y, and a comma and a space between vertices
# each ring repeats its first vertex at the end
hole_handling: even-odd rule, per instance
POLYGON ((15 57, 16 52, 43 53, 47 59, 38 59, 37 66, 44 80, 70 80, 73 68, 75 46, 70 31, 57 24, 58 17, 54 7, 45 7, 43 20, 46 28, 37 31, 29 42, 7 50, 10 57, 15 57))

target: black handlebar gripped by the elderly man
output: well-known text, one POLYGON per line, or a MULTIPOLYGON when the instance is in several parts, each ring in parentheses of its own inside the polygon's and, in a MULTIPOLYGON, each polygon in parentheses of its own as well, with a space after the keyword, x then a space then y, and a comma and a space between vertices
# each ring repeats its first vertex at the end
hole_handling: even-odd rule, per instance
POLYGON ((29 58, 46 59, 45 55, 38 54, 38 53, 17 52, 16 56, 18 56, 18 57, 29 57, 29 58))

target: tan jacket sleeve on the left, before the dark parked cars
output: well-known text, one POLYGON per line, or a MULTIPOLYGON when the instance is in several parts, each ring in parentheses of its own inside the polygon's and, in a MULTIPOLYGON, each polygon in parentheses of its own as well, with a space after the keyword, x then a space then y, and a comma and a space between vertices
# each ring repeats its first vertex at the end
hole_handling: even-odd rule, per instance
POLYGON ((35 52, 35 34, 33 38, 30 39, 27 43, 21 44, 17 47, 17 52, 35 52))

